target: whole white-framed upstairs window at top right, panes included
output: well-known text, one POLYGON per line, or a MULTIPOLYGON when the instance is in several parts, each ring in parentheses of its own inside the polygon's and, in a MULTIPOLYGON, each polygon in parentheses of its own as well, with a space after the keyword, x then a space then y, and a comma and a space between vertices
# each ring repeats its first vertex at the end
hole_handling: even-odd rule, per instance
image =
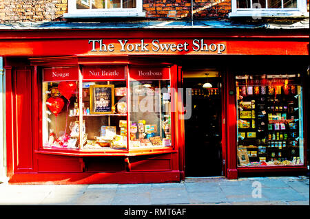
POLYGON ((229 17, 309 17, 307 0, 231 0, 229 17))

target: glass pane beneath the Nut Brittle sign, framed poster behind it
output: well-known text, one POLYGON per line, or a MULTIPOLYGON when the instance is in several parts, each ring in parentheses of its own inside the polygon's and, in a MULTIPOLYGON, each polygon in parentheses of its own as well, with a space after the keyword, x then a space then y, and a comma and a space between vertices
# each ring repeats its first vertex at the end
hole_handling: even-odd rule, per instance
POLYGON ((126 91, 125 80, 83 82, 83 150, 127 148, 126 91))

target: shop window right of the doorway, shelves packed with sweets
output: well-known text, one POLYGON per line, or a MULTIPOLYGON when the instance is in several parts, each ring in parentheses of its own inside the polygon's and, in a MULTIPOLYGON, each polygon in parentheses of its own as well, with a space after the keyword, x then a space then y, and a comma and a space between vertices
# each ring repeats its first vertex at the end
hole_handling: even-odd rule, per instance
POLYGON ((236 76, 238 166, 302 165, 300 74, 236 76))

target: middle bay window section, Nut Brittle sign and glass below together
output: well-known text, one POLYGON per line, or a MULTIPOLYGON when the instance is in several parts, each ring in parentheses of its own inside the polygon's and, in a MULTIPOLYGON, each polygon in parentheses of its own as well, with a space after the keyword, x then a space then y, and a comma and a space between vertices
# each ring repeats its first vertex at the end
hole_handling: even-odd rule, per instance
POLYGON ((83 150, 127 149, 124 66, 83 66, 83 150))

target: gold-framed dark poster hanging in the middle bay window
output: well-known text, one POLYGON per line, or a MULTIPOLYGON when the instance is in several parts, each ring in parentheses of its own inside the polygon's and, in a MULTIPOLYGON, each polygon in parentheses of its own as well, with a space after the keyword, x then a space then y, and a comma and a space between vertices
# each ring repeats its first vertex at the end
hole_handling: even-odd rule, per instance
POLYGON ((90 86, 90 114, 113 112, 114 84, 90 86))

